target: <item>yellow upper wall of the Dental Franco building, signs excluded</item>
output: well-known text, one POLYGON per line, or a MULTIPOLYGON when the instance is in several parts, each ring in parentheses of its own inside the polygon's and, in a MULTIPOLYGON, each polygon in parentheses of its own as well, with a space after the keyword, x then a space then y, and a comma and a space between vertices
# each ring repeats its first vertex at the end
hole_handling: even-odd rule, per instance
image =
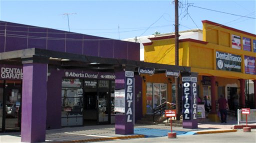
MULTIPOLYGON (((245 74, 243 61, 244 55, 254 56, 256 58, 256 53, 252 51, 253 39, 256 39, 256 36, 203 23, 203 40, 208 43, 201 43, 194 40, 179 42, 179 65, 190 66, 191 71, 198 72, 199 75, 255 80, 256 75, 245 74), (243 50, 242 47, 241 49, 232 48, 232 34, 241 37, 241 45, 243 36, 250 38, 251 51, 243 50), (216 69, 216 51, 240 55, 242 58, 241 72, 216 69)), ((151 45, 144 46, 144 61, 163 64, 175 63, 174 38, 151 41, 151 45), (148 49, 151 50, 149 51, 148 49)))

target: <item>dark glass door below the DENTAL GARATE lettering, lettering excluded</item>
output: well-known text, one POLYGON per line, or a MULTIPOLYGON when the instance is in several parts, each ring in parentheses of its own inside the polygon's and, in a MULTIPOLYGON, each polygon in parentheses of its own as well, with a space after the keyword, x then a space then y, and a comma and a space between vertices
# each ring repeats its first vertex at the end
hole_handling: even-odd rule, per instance
POLYGON ((19 131, 21 80, 0 80, 0 132, 19 131))

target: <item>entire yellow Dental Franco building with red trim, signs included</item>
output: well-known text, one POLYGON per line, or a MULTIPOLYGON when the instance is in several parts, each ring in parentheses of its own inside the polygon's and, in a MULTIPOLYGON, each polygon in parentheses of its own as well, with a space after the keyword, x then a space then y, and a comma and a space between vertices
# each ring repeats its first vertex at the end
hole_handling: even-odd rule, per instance
MULTIPOLYGON (((216 101, 220 94, 227 99, 231 110, 237 107, 256 107, 256 35, 225 25, 203 20, 202 40, 185 38, 179 40, 179 65, 191 67, 197 72, 198 95, 206 96, 212 106, 209 118, 217 120, 216 101), (254 82, 254 93, 246 94, 245 81, 254 82), (237 97, 238 95, 238 97, 237 97)), ((151 42, 143 43, 144 61, 174 64, 174 35, 148 38, 151 42)), ((171 83, 173 78, 165 74, 155 78, 146 76, 143 83, 143 114, 148 113, 146 88, 151 83, 167 85, 168 101, 172 100, 171 83), (148 85, 147 85, 148 84, 148 85)), ((247 83, 246 83, 247 84, 247 83)), ((250 89, 251 90, 251 89, 250 89)), ((253 89, 252 89, 253 90, 253 89)))

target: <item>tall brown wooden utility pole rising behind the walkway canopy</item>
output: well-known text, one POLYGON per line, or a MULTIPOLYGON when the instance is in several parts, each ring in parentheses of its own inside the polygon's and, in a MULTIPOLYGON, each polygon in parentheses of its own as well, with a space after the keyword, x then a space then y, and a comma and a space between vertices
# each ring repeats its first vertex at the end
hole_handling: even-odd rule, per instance
MULTIPOLYGON (((178 65, 178 0, 174 2, 175 6, 175 65, 178 65)), ((175 103, 176 120, 180 120, 179 96, 178 96, 178 77, 175 77, 175 103)))

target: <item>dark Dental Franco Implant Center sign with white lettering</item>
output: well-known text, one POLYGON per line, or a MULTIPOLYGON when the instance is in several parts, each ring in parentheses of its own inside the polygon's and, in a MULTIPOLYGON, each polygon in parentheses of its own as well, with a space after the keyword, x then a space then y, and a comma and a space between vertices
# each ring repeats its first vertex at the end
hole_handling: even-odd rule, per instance
POLYGON ((216 51, 216 67, 220 70, 241 72, 240 55, 216 51))

